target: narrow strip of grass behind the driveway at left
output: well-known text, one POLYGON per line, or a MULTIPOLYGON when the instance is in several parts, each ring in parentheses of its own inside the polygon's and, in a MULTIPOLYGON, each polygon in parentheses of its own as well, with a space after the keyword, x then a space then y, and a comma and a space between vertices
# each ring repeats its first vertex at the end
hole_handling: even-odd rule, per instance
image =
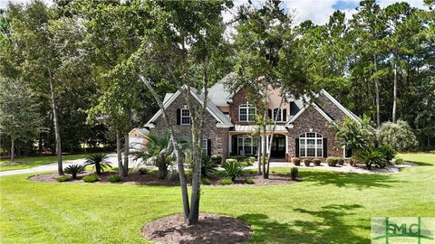
MULTIPOLYGON (((80 159, 85 158, 89 154, 81 154, 81 155, 63 155, 63 160, 74 160, 74 159, 80 159)), ((56 155, 49 155, 49 156, 30 156, 30 157, 19 157, 15 158, 15 162, 28 162, 29 164, 20 164, 20 165, 10 165, 5 166, 3 164, 9 163, 9 159, 3 159, 0 160, 0 171, 6 171, 6 170, 17 170, 17 169, 28 169, 33 168, 35 166, 43 165, 43 164, 52 164, 57 163, 57 156, 56 155)))

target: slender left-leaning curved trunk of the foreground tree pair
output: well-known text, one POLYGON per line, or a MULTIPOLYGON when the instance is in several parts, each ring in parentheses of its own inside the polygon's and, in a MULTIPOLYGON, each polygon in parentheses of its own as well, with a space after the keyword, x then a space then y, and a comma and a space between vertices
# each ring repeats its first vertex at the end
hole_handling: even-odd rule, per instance
POLYGON ((186 181, 186 174, 184 172, 184 164, 182 161, 182 156, 180 155, 180 152, 179 152, 179 145, 177 144, 177 141, 175 139, 175 131, 174 131, 174 128, 172 127, 172 124, 169 121, 169 117, 166 113, 166 108, 163 106, 163 103, 161 102, 156 91, 150 85, 150 81, 145 80, 145 78, 141 75, 140 75, 140 80, 142 80, 142 82, 145 84, 145 86, 148 89, 150 89, 152 97, 156 100, 157 104, 159 105, 159 108, 162 111, 163 119, 165 120, 166 126, 169 129, 170 141, 172 142, 172 146, 174 148, 175 158, 176 158, 178 170, 179 170, 179 184, 181 187, 181 198, 183 200, 183 215, 184 215, 184 220, 187 221, 189 218, 189 211, 190 211, 188 183, 186 181))

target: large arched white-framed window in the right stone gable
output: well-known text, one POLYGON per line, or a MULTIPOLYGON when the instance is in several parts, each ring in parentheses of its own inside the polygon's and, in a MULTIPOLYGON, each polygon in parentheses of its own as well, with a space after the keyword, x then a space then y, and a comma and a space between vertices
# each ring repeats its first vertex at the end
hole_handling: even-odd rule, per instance
POLYGON ((315 132, 299 136, 299 156, 322 157, 324 155, 324 138, 315 132))

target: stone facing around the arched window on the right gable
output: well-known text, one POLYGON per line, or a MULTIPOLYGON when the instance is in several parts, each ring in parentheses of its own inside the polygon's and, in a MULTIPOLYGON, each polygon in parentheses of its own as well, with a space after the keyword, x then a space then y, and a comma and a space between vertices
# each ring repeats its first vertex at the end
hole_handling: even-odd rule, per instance
MULTIPOLYGON (((333 105, 334 106, 334 105, 333 105)), ((335 107, 331 111, 338 114, 335 107)), ((300 117, 297 117, 294 122, 293 128, 287 128, 289 133, 288 138, 288 152, 289 158, 295 157, 295 138, 298 138, 301 134, 310 132, 310 128, 313 132, 320 133, 324 138, 328 140, 328 156, 343 156, 343 149, 336 148, 335 145, 335 131, 329 127, 329 122, 324 116, 322 116, 313 106, 305 109, 304 113, 300 117)))

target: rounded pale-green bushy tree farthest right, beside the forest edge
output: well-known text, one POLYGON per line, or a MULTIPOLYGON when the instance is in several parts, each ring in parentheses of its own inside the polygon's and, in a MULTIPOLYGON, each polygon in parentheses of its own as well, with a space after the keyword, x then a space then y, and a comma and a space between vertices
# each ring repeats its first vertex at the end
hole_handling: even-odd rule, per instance
POLYGON ((391 145, 394 150, 410 150, 417 145, 411 127, 403 120, 398 120, 397 123, 383 123, 377 136, 382 144, 391 145))

